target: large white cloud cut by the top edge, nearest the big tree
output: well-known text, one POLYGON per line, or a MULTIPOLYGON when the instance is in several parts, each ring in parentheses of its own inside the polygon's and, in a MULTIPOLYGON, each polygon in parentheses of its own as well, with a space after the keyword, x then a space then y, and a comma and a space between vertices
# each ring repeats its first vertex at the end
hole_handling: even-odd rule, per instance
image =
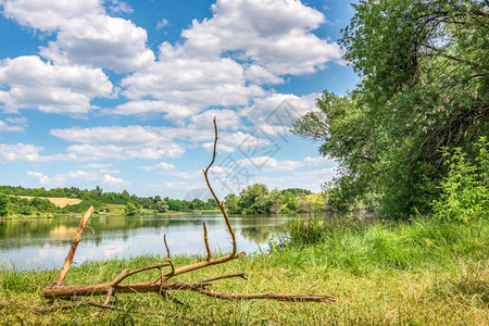
POLYGON ((193 55, 237 51, 276 75, 313 73, 342 55, 339 45, 311 30, 324 15, 298 0, 218 0, 213 17, 183 32, 193 55))

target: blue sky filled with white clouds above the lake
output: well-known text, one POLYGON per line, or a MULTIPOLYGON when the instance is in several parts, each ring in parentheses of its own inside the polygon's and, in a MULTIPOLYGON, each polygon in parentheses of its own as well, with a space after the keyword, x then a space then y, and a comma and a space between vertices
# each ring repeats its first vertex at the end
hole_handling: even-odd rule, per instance
POLYGON ((290 134, 359 77, 350 1, 0 0, 0 185, 201 198, 321 185, 337 163, 290 134))

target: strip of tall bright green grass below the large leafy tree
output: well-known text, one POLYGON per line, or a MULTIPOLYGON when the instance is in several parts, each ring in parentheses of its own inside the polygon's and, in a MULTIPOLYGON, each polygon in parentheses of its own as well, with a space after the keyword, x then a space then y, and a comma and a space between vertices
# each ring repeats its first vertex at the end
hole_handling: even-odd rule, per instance
MULTIPOLYGON (((489 258, 488 222, 348 223, 337 220, 294 221, 278 248, 285 255, 304 255, 327 268, 353 274, 375 269, 446 271, 460 260, 489 258)), ((299 260, 301 261, 301 260, 299 260)))

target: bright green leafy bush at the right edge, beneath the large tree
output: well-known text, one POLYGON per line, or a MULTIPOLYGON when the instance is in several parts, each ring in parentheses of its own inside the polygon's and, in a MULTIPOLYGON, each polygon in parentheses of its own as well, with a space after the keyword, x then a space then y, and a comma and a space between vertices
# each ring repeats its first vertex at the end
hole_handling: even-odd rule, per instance
POLYGON ((486 137, 476 143, 478 155, 474 162, 466 160, 460 148, 452 153, 447 164, 448 176, 441 183, 441 196, 434 202, 435 217, 440 221, 469 222, 489 215, 489 154, 486 137))

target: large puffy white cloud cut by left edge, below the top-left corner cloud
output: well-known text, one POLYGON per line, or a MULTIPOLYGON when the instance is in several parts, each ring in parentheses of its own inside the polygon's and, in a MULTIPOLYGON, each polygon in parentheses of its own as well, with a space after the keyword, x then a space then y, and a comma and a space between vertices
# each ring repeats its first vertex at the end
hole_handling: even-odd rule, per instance
POLYGON ((38 109, 53 113, 86 113, 96 97, 111 97, 113 88, 100 68, 45 63, 36 55, 0 61, 0 108, 7 112, 38 109))

